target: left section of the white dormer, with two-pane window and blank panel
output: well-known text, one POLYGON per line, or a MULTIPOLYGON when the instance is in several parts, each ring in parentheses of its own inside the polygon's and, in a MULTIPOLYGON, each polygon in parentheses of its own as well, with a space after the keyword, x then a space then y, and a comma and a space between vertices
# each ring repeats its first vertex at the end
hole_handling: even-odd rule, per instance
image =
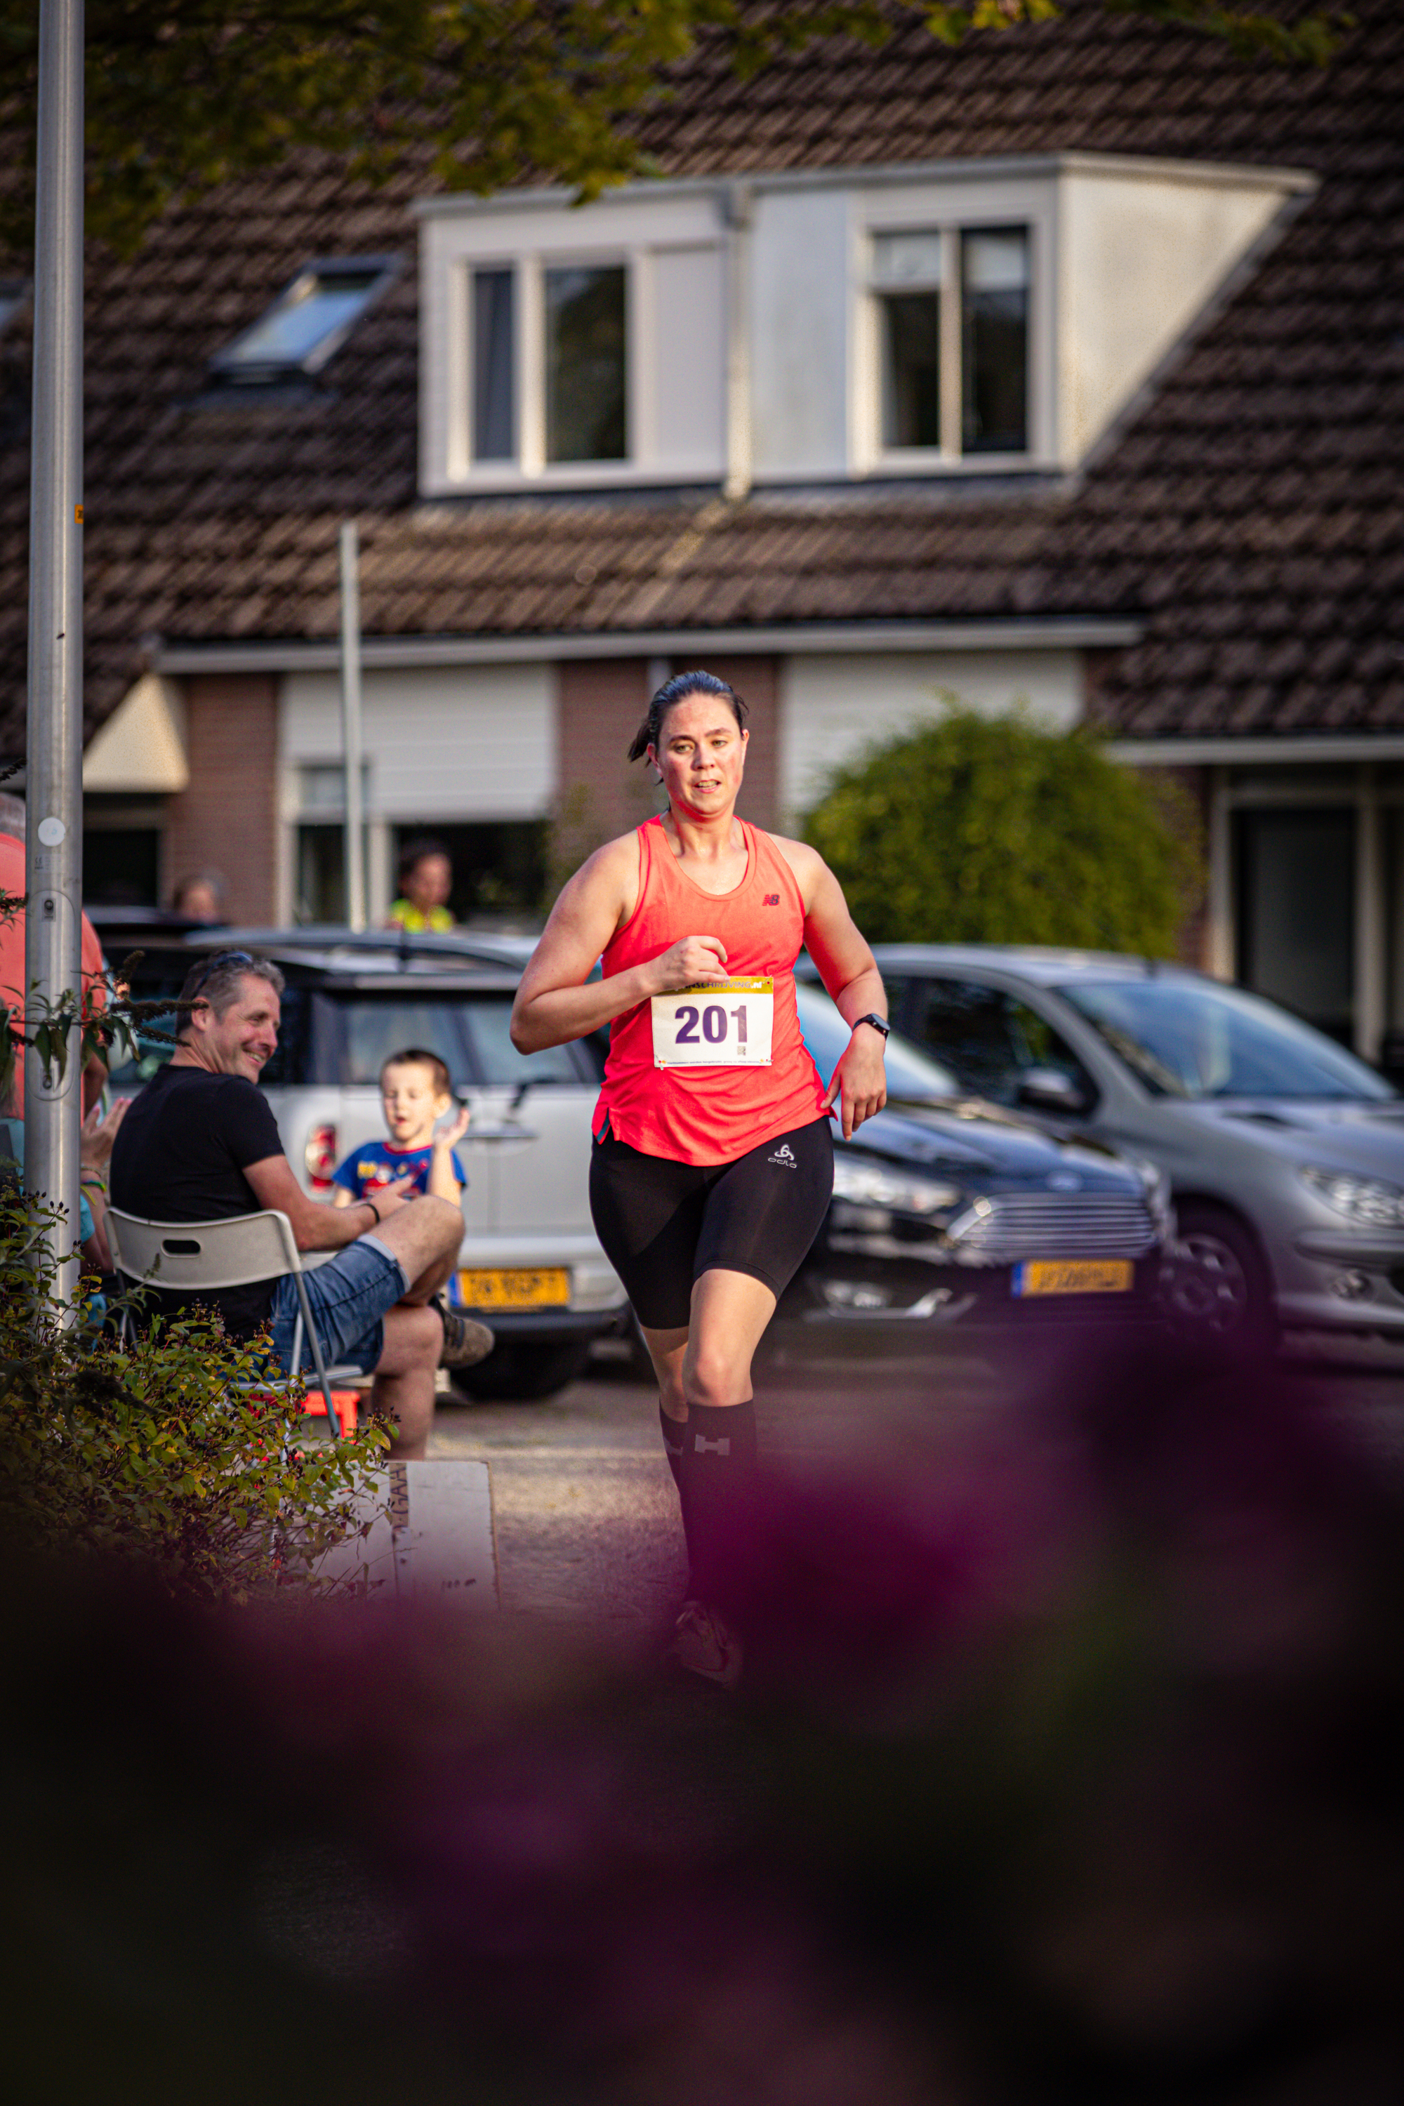
POLYGON ((425 493, 722 480, 716 185, 587 211, 560 192, 432 198, 421 213, 425 493))

